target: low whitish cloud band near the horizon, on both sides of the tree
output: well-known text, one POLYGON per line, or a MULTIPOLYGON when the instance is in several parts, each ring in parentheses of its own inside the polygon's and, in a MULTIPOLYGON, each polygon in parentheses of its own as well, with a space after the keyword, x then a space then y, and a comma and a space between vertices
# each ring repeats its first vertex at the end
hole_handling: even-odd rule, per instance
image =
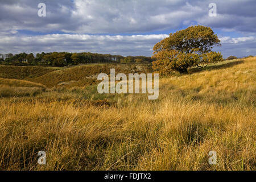
MULTIPOLYGON (((152 48, 167 34, 154 35, 88 35, 88 34, 48 34, 38 36, 2 35, 1 53, 19 52, 97 52, 120 54, 123 56, 152 55, 152 48), (10 51, 11 50, 11 51, 10 51)), ((224 57, 255 55, 254 36, 220 38, 222 47, 214 47, 224 57)))

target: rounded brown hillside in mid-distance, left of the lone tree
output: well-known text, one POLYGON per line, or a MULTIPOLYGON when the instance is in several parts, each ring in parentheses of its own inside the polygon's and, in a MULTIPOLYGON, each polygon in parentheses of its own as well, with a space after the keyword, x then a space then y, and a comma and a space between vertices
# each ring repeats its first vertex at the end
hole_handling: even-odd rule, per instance
POLYGON ((69 88, 87 86, 96 84, 99 73, 110 74, 111 68, 114 68, 117 73, 151 72, 150 64, 88 64, 49 72, 30 80, 39 82, 49 88, 63 85, 69 88))

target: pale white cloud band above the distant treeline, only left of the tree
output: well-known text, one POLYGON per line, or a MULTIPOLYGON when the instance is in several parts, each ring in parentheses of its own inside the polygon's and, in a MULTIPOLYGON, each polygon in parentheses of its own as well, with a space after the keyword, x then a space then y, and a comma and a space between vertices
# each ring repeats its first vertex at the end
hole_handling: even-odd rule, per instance
POLYGON ((168 35, 82 35, 48 34, 40 36, 0 36, 1 53, 19 52, 97 52, 147 55, 152 47, 168 35))

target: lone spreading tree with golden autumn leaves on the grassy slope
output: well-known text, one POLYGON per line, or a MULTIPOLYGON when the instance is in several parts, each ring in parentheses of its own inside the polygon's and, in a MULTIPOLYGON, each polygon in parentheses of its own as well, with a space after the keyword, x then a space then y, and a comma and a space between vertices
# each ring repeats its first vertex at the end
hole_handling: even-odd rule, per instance
POLYGON ((213 46, 221 44, 209 27, 191 26, 177 31, 155 44, 153 69, 163 74, 172 71, 187 73, 188 68, 222 61, 221 53, 212 51, 213 46))

